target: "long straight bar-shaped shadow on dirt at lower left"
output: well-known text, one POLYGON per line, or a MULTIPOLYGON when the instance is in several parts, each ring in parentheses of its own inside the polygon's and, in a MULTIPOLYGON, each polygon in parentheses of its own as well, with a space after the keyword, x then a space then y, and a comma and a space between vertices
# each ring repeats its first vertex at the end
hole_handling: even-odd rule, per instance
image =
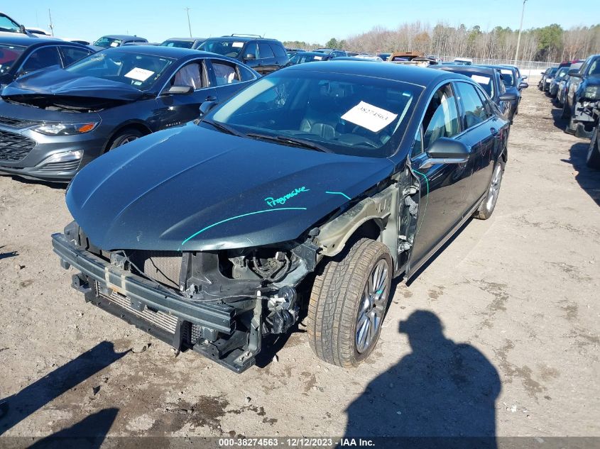
POLYGON ((103 341, 20 392, 0 399, 0 435, 127 353, 116 353, 112 343, 103 341))

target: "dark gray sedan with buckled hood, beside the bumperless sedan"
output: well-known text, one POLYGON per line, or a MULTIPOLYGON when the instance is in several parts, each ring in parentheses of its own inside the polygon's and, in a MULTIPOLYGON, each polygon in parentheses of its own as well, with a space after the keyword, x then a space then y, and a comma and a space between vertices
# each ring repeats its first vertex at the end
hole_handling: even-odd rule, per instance
POLYGON ((0 173, 67 182, 94 158, 198 116, 258 74, 185 48, 109 48, 9 84, 0 101, 0 173))

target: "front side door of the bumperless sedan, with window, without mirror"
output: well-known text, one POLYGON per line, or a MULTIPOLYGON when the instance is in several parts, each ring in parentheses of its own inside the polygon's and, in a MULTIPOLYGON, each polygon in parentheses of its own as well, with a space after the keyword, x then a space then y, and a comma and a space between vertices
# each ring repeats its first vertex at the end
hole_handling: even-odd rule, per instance
POLYGON ((427 149, 432 143, 442 137, 459 138, 461 130, 457 96, 451 84, 444 84, 427 105, 410 157, 421 192, 410 272, 425 262, 467 211, 471 163, 427 166, 427 149))

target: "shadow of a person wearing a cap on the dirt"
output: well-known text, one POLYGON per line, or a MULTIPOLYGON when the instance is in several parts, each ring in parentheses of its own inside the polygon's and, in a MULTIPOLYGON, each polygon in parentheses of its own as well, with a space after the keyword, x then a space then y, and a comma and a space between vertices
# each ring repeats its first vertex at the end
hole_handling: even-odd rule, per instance
POLYGON ((386 448, 496 448, 496 368, 474 346, 446 338, 430 311, 413 312, 399 331, 412 353, 349 405, 344 438, 386 448))

